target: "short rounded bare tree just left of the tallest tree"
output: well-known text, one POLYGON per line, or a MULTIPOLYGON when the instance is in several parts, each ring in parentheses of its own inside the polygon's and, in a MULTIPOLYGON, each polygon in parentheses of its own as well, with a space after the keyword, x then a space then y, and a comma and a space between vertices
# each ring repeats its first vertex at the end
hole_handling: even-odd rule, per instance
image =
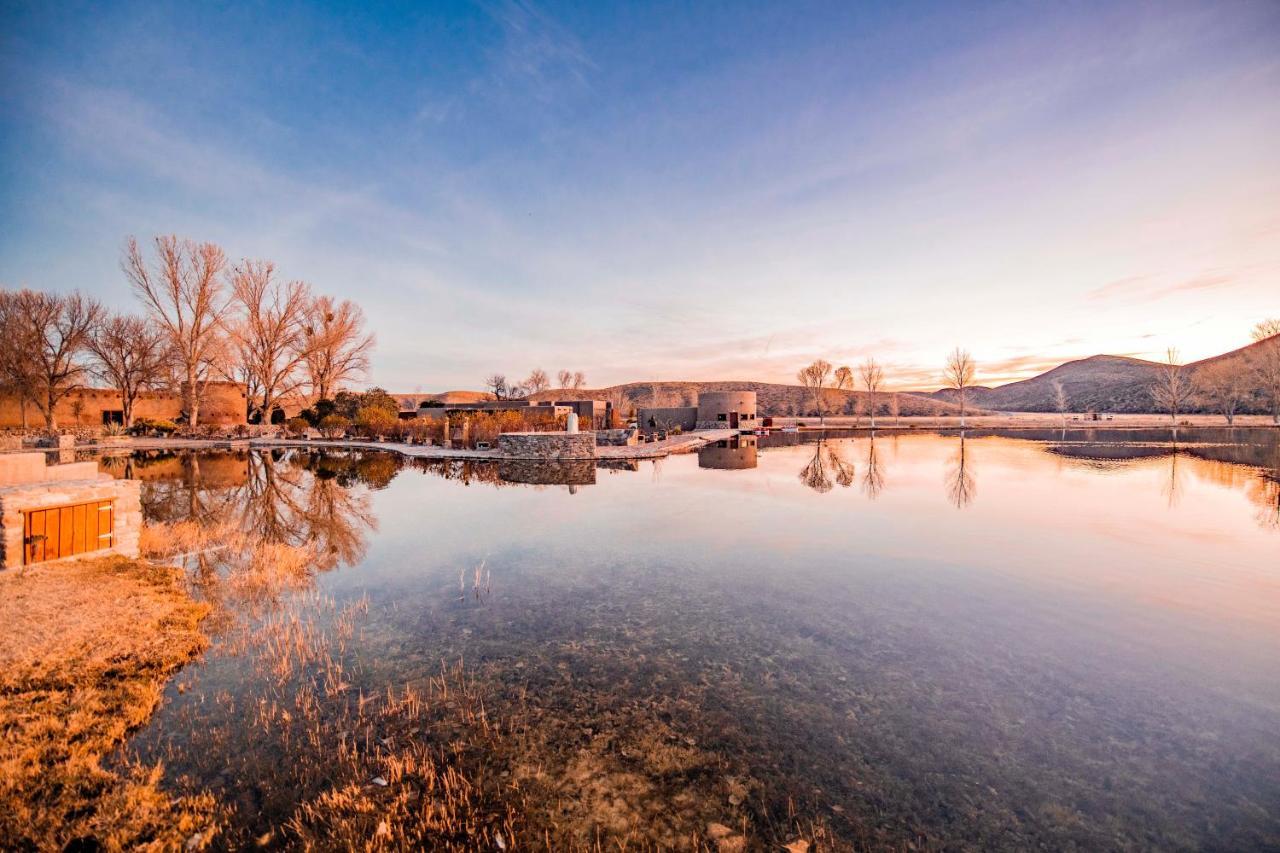
POLYGON ((133 406, 147 388, 164 384, 169 369, 169 337, 140 316, 104 318, 86 342, 93 353, 93 373, 120 392, 120 414, 133 425, 133 406))

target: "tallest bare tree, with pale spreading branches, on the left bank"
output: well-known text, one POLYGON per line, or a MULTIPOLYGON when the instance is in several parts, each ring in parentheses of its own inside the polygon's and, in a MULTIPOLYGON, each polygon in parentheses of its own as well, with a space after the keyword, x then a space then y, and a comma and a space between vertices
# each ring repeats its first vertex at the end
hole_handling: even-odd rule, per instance
POLYGON ((129 238, 124 275, 165 330, 182 373, 187 424, 200 423, 200 401, 218 360, 224 355, 228 302, 221 274, 227 256, 214 243, 177 237, 155 238, 156 261, 147 264, 138 241, 129 238))

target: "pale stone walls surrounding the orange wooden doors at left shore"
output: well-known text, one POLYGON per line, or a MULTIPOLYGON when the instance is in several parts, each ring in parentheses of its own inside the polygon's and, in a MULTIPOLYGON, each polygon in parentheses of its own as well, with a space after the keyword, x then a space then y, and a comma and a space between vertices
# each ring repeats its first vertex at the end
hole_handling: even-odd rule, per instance
POLYGON ((60 506, 111 501, 111 547, 77 557, 119 553, 138 556, 142 532, 142 484, 100 474, 96 462, 45 466, 44 453, 0 457, 0 567, 23 560, 23 514, 60 506))

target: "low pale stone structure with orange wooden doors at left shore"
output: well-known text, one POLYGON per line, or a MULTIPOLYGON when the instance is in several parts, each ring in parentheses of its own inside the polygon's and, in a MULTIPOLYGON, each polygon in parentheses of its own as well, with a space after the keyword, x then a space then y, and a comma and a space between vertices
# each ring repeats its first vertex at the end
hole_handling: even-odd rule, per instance
POLYGON ((138 556, 142 484, 97 462, 47 465, 44 453, 0 456, 0 567, 68 557, 138 556))

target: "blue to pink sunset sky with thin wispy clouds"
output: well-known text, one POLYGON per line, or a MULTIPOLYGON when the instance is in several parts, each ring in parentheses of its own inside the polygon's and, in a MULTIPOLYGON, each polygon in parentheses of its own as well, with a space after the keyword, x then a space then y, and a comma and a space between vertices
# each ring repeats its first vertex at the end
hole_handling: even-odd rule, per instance
POLYGON ((0 284, 175 233, 369 384, 998 384, 1280 315, 1280 3, 0 0, 0 284))

